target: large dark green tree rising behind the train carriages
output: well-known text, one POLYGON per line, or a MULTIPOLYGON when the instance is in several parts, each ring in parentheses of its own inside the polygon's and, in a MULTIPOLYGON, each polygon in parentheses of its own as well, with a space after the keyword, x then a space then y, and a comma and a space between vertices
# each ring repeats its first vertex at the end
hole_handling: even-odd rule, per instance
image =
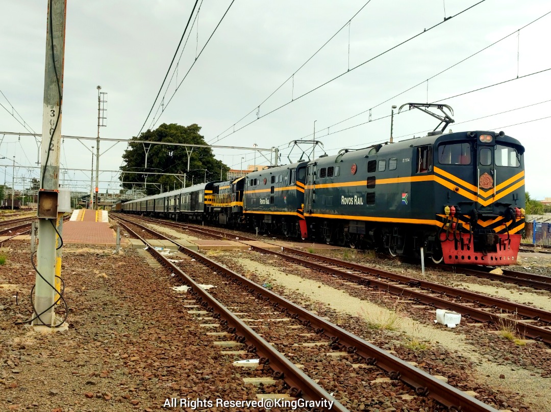
MULTIPOLYGON (((229 171, 229 167, 219 160, 214 158, 212 149, 209 147, 193 147, 190 155, 190 169, 187 170, 187 152, 186 146, 170 146, 170 145, 151 145, 147 156, 147 168, 145 168, 145 150, 142 143, 132 142, 132 140, 147 140, 167 143, 187 143, 195 145, 206 145, 204 138, 199 131, 201 127, 197 124, 189 126, 181 126, 171 123, 161 124, 155 130, 148 130, 142 133, 139 138, 133 137, 128 144, 128 149, 122 155, 125 164, 121 166, 121 172, 139 172, 139 173, 121 173, 120 180, 123 182, 123 188, 132 188, 132 183, 144 183, 144 172, 156 173, 186 173, 186 186, 190 186, 193 178, 193 183, 201 183, 204 180, 205 173, 207 182, 219 180, 220 170, 222 170, 222 178, 225 179, 229 171), (197 169, 207 169, 204 170, 197 169)), ((145 144, 147 147, 147 144, 145 144)), ((188 151, 191 147, 187 147, 188 151)), ((160 186, 163 185, 163 190, 168 191, 172 188, 180 188, 182 186, 183 177, 173 175, 155 175, 150 174, 147 177, 147 194, 152 195, 160 192, 160 186)))

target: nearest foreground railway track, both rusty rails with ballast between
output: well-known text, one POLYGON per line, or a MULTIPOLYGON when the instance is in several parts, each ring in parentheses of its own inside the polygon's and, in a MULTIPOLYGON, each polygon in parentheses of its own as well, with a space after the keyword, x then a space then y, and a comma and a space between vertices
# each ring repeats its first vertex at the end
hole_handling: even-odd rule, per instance
MULTIPOLYGON (((428 401, 425 395, 428 395, 429 398, 436 400, 436 402, 443 405, 444 408, 447 408, 438 408, 437 410, 454 410, 454 408, 455 410, 469 411, 495 410, 478 401, 476 398, 408 364, 408 362, 396 358, 390 353, 333 325, 324 318, 272 293, 270 290, 229 270, 225 266, 209 260, 198 252, 185 248, 174 240, 171 241, 177 245, 179 251, 185 255, 176 257, 176 259, 181 260, 181 262, 174 262, 175 259, 168 260, 159 251, 151 247, 152 245, 148 244, 145 239, 140 237, 136 230, 132 230, 129 226, 136 226, 138 230, 147 231, 156 238, 168 238, 146 226, 138 225, 135 221, 131 221, 130 219, 122 218, 121 216, 117 216, 116 219, 129 231, 129 233, 132 233, 135 237, 147 244, 149 246, 148 250, 156 259, 163 262, 163 265, 169 267, 175 274, 178 274, 183 282, 191 285, 194 291, 193 293, 196 294, 203 309, 212 312, 212 318, 220 320, 220 325, 225 327, 226 330, 235 337, 238 343, 246 345, 247 350, 256 354, 260 361, 268 361, 265 365, 268 365, 273 370, 274 377, 283 378, 288 387, 291 388, 291 395, 297 396, 302 394, 306 399, 332 399, 331 395, 329 395, 325 389, 320 388, 312 381, 312 378, 308 377, 304 372, 298 369, 298 367, 293 365, 298 362, 304 365, 305 370, 309 370, 312 364, 317 365, 313 370, 314 373, 316 373, 316 371, 321 373, 320 370, 324 369, 332 370, 333 376, 330 380, 320 380, 320 382, 325 382, 329 386, 334 384, 334 382, 332 382, 333 380, 338 381, 339 379, 344 379, 348 382, 350 373, 356 374, 361 368, 363 370, 362 375, 365 375, 372 384, 377 382, 377 380, 379 380, 379 382, 393 381, 392 391, 402 394, 402 399, 407 399, 408 402, 419 402, 426 406, 428 405, 426 403, 428 401), (193 277, 197 278, 200 282, 220 282, 218 283, 219 287, 215 289, 214 293, 217 294, 217 297, 222 300, 223 303, 218 302, 211 294, 202 290, 198 286, 198 282, 193 281, 193 279, 184 273, 178 265, 188 271, 192 268, 193 277), (208 268, 206 271, 202 269, 205 265, 207 265, 208 268), (224 277, 222 281, 220 281, 219 277, 212 276, 213 270, 224 277), (244 292, 244 289, 247 292, 244 292), (245 296, 244 300, 241 300, 242 296, 245 296), (255 296, 256 300, 251 301, 251 296, 255 296), (228 310, 228 306, 231 306, 234 311, 242 311, 242 315, 253 317, 253 319, 248 321, 240 319, 235 313, 228 310), (251 311, 251 307, 255 309, 251 311), (255 312, 255 314, 251 314, 251 312, 255 312), (293 320, 295 325, 283 330, 280 329, 278 326, 280 322, 276 321, 271 316, 276 315, 278 318, 281 318, 282 314, 285 319, 293 320), (246 322, 248 322, 249 325, 247 325, 246 322), (254 326, 250 326, 251 323, 253 323, 254 326), (266 325, 263 325, 262 327, 262 324, 265 323, 268 323, 270 326, 266 327, 266 325), (268 344, 266 340, 258 336, 258 334, 252 330, 256 328, 261 328, 263 337, 269 337, 271 344, 268 344), (305 329, 302 330, 301 328, 305 329), (283 341, 281 340, 282 337, 283 341), (316 341, 311 342, 314 338, 316 338, 316 341), (302 343, 302 345, 299 343, 302 343), (280 351, 274 349, 274 347, 292 351, 292 360, 287 359, 280 351), (329 353, 335 353, 336 351, 336 355, 320 356, 320 348, 324 348, 323 350, 325 351, 327 347, 332 351, 329 353), (312 355, 312 353, 314 353, 314 355, 312 355), (354 364, 357 369, 354 369, 353 365, 352 372, 350 370, 341 371, 340 369, 342 366, 336 367, 335 362, 330 364, 326 363, 326 366, 324 366, 324 364, 317 364, 322 358, 327 359, 332 358, 332 356, 353 357, 356 362, 359 361, 361 363, 354 364), (312 359, 315 359, 315 361, 312 362, 312 359), (399 381, 401 381, 400 384, 398 384, 399 381), (398 386, 396 386, 397 384, 398 386), (412 392, 410 388, 413 388, 414 392, 412 392)), ((207 320, 210 321, 210 319, 207 320)), ((291 356, 290 353, 288 353, 288 355, 291 356)), ((350 387, 349 384, 343 385, 343 387, 344 386, 350 387)), ((371 389, 373 389, 373 386, 371 386, 371 389)), ((348 400, 349 397, 350 399, 354 399, 355 392, 356 388, 352 388, 352 392, 339 393, 339 395, 342 397, 343 403, 346 404, 347 402, 345 401, 348 400)), ((338 408, 344 408, 341 404, 337 403, 336 405, 338 408)), ((331 410, 346 409, 337 409, 333 406, 331 410)))

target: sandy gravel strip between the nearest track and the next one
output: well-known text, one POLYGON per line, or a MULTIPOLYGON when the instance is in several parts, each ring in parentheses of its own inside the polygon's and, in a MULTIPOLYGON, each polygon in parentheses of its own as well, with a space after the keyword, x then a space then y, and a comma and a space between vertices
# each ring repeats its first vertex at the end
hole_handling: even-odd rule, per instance
POLYGON ((291 300, 312 305, 339 326, 395 350, 433 375, 448 377, 454 386, 480 393, 479 399, 485 402, 494 400, 496 406, 511 410, 527 410, 532 404, 533 410, 551 411, 541 397, 551 388, 551 380, 544 377, 551 369, 551 353, 541 343, 521 347, 466 322, 451 331, 434 325, 434 310, 411 311, 411 303, 384 293, 366 299, 360 292, 363 288, 328 280, 327 275, 307 274, 304 268, 288 267, 272 256, 221 252, 214 259, 257 277, 291 300), (396 330, 374 330, 374 324, 385 322, 392 322, 396 330))

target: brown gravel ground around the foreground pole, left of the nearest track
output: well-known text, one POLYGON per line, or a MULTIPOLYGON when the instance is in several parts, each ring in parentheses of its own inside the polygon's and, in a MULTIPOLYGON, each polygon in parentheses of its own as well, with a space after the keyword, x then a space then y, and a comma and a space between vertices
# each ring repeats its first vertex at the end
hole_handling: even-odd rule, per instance
POLYGON ((14 325, 30 315, 35 274, 28 244, 10 245, 0 266, 0 410, 153 411, 166 398, 255 399, 233 356, 213 346, 190 303, 170 289, 169 273, 132 249, 64 246, 69 330, 14 325))

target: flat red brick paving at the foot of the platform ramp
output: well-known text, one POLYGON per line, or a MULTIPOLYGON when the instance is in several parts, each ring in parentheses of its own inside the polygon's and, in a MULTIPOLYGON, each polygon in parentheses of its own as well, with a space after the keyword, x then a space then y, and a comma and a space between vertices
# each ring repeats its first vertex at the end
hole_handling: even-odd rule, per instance
POLYGON ((117 243, 115 230, 109 223, 95 222, 95 211, 88 210, 84 215, 94 215, 94 221, 84 220, 63 223, 63 243, 83 243, 91 245, 115 245, 117 243))

